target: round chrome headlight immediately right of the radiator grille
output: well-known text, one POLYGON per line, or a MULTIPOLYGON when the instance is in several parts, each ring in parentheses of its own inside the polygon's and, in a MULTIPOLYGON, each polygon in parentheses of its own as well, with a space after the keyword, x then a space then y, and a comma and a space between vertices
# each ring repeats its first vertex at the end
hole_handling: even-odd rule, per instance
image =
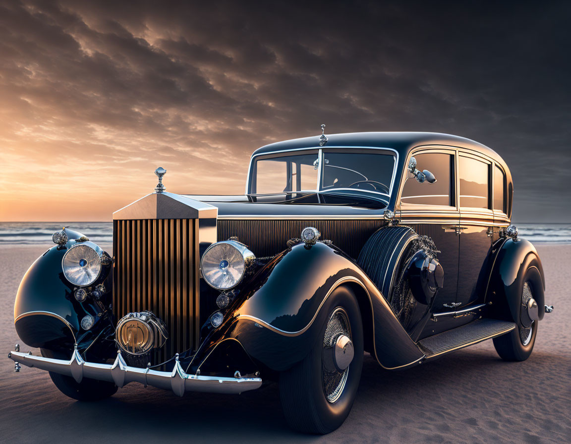
POLYGON ((246 268, 256 259, 246 245, 225 240, 210 245, 200 260, 200 272, 208 285, 217 290, 234 288, 242 281, 246 268))

